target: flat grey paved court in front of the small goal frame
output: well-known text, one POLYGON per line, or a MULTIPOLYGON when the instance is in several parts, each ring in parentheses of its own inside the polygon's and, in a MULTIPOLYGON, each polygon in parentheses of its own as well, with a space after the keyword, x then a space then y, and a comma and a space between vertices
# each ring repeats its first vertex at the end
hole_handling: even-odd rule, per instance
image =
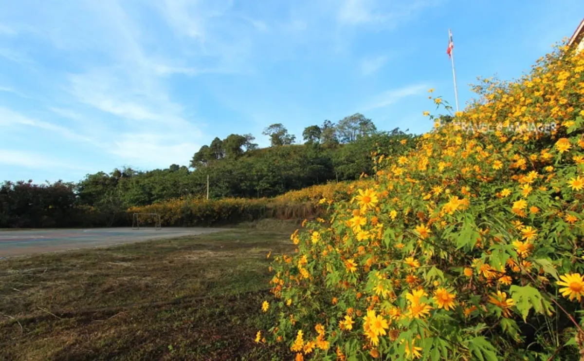
POLYGON ((85 230, 0 231, 0 258, 140 242, 148 239, 176 238, 221 230, 221 228, 162 228, 162 230, 155 231, 154 229, 90 228, 85 230))

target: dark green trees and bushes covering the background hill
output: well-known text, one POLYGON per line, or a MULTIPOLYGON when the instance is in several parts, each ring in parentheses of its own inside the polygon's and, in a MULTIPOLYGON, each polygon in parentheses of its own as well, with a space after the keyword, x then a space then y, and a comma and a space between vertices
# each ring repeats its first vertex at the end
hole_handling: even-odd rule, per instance
MULTIPOLYGON (((407 130, 406 130, 407 131, 407 130)), ((329 181, 357 179, 373 172, 371 152, 408 150, 415 136, 399 129, 378 131, 362 114, 308 126, 303 143, 283 124, 262 132, 270 147, 259 148, 251 134, 216 137, 188 166, 137 171, 131 167, 98 172, 77 183, 4 182, 0 186, 0 227, 70 227, 79 209, 100 214, 100 225, 116 224, 116 214, 179 197, 272 197, 329 181)))

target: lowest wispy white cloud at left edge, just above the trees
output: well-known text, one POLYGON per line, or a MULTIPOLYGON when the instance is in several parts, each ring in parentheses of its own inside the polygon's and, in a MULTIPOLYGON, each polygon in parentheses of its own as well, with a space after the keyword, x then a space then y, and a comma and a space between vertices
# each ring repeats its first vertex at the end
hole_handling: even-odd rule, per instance
POLYGON ((71 169, 74 171, 90 171, 85 166, 71 164, 66 159, 46 157, 37 152, 22 150, 0 149, 0 164, 10 166, 23 166, 32 169, 71 169))

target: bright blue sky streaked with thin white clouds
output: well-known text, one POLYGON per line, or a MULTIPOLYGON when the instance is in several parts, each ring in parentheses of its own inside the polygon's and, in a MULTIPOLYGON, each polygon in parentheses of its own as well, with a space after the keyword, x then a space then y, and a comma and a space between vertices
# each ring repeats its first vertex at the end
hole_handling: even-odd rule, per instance
POLYGON ((201 145, 360 112, 430 129, 427 89, 461 107, 479 76, 519 77, 584 2, 0 0, 0 180, 188 164, 201 145))

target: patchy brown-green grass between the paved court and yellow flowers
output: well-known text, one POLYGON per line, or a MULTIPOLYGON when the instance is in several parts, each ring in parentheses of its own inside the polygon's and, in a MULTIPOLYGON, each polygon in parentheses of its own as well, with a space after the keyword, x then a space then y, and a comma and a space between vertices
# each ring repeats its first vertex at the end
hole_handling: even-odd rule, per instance
MULTIPOLYGON (((278 228, 278 227, 275 227, 278 228)), ((288 230, 247 228, 0 261, 0 359, 269 360, 253 342, 288 230)))

